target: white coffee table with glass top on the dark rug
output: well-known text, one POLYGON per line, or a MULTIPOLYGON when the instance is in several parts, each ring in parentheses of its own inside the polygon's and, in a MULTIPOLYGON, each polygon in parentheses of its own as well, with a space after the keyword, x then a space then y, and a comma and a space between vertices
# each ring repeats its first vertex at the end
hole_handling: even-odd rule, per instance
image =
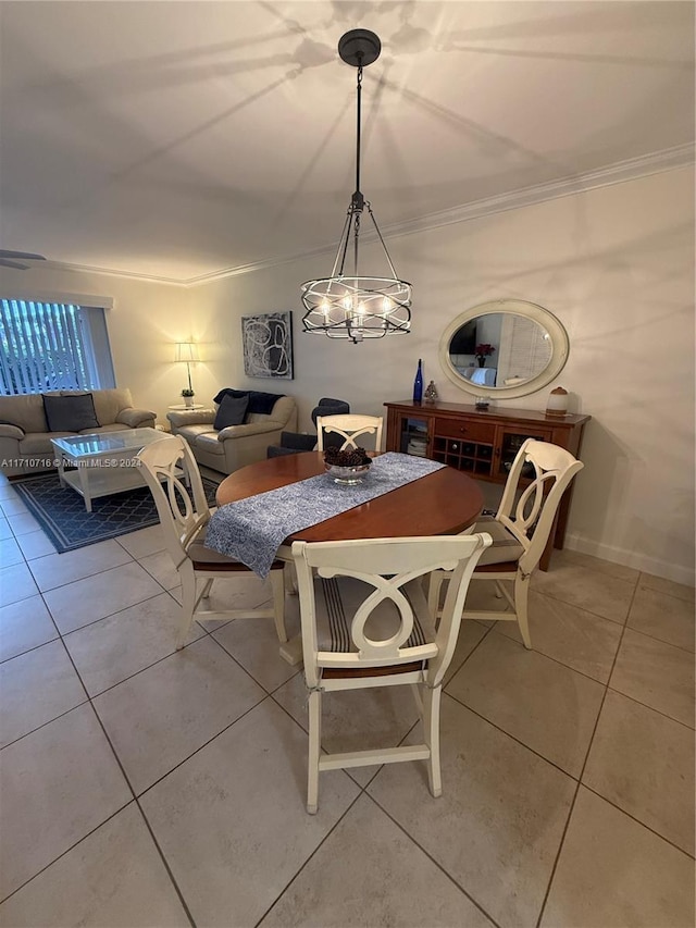
POLYGON ((51 438, 58 461, 61 486, 72 487, 85 499, 91 512, 91 500, 142 486, 137 454, 145 445, 169 438, 157 429, 126 429, 51 438), (73 467, 75 470, 65 470, 73 467))

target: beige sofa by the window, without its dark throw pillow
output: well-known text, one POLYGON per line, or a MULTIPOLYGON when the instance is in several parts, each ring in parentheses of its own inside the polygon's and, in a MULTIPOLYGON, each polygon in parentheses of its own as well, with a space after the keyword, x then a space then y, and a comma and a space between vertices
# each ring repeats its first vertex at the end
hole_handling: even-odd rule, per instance
POLYGON ((153 429, 156 412, 136 409, 129 389, 47 391, 47 396, 91 393, 99 428, 79 432, 49 432, 44 394, 0 396, 0 470, 8 477, 55 468, 51 438, 124 429, 153 429))

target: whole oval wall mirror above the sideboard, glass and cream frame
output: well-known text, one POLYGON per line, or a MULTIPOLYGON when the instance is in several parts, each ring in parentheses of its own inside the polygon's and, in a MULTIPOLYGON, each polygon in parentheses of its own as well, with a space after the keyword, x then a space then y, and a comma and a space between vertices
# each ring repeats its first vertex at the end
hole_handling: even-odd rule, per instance
POLYGON ((513 399, 550 383, 568 360, 568 333, 548 310, 521 299, 483 302, 445 330, 439 361, 474 396, 513 399))

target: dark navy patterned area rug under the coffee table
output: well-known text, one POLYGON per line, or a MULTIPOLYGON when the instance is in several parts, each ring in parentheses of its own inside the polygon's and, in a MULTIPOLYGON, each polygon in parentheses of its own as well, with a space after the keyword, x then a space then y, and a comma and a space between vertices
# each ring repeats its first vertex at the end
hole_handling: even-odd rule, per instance
MULTIPOLYGON (((207 478, 202 481, 208 502, 213 506, 217 484, 207 478)), ((59 554, 157 525, 160 521, 147 486, 92 499, 91 512, 87 512, 78 493, 60 485, 57 473, 23 477, 13 480, 12 486, 59 554)))

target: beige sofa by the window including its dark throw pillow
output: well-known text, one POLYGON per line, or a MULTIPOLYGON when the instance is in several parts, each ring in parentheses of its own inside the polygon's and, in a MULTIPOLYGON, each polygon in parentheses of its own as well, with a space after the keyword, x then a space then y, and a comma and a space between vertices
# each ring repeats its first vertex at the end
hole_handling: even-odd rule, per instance
POLYGON ((0 396, 0 470, 7 477, 53 470, 57 463, 51 438, 154 429, 156 418, 156 412, 133 406, 129 389, 61 389, 0 396), (61 401, 61 397, 66 399, 61 401), (54 428, 57 424, 86 428, 54 428))

